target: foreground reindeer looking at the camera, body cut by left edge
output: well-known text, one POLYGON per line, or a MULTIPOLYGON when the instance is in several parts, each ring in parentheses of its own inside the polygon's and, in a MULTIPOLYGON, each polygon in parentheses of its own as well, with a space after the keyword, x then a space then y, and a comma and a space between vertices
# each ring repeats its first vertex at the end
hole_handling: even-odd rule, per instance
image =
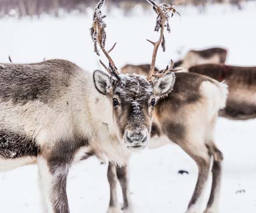
POLYGON ((146 147, 155 104, 175 82, 171 72, 119 74, 105 50, 104 2, 94 10, 91 33, 108 73, 66 60, 0 66, 0 170, 37 163, 45 212, 69 213, 72 164, 94 155, 122 165, 146 147))

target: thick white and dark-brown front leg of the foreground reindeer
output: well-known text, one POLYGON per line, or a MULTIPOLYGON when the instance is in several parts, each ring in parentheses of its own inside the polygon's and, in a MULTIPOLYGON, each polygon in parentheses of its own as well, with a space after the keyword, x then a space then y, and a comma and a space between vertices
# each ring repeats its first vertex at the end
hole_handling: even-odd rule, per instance
POLYGON ((61 158, 53 163, 38 156, 38 173, 41 176, 47 213, 69 213, 67 203, 66 181, 69 165, 61 162, 61 158))

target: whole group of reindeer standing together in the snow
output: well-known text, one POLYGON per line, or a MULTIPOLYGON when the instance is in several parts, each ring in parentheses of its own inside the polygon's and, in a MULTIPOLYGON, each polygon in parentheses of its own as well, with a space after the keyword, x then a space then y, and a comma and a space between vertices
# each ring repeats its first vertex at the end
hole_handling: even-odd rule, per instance
POLYGON ((154 46, 152 62, 127 64, 120 73, 109 55, 115 45, 105 49, 104 2, 94 10, 91 37, 95 52, 101 50, 108 59, 108 66, 100 61, 106 72, 84 71, 66 60, 0 64, 0 171, 37 164, 44 212, 68 213, 69 168, 96 156, 109 161, 108 213, 132 213, 131 154, 176 143, 198 166, 186 213, 200 213, 210 171, 204 213, 218 213, 223 154, 214 139, 216 119, 256 117, 256 67, 227 66, 227 50, 211 48, 191 50, 158 70, 157 52, 159 46, 165 49, 164 31, 177 11, 149 0, 159 32, 157 42, 148 40, 154 46), (116 194, 118 181, 123 208, 116 194))

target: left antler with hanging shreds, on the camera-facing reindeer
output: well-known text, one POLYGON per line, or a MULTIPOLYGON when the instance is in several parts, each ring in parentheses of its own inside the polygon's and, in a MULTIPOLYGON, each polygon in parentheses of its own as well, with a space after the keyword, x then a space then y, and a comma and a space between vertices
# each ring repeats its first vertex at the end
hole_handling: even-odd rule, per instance
POLYGON ((118 80, 120 80, 120 78, 118 77, 118 75, 119 75, 118 68, 116 68, 115 63, 113 62, 111 56, 109 55, 109 53, 113 50, 113 48, 115 48, 116 43, 108 51, 105 50, 105 42, 106 42, 105 27, 106 27, 106 23, 104 22, 103 19, 106 16, 102 15, 102 12, 101 12, 101 7, 102 7, 102 5, 104 5, 104 3, 105 3, 105 0, 100 0, 97 3, 97 6, 94 9, 93 26, 90 29, 91 30, 91 38, 93 38, 93 42, 94 42, 94 52, 99 56, 99 50, 97 48, 97 43, 98 43, 102 52, 104 53, 104 55, 108 59, 109 67, 107 67, 101 60, 99 60, 99 62, 106 69, 106 71, 108 71, 109 74, 114 75, 116 78, 118 78, 118 80))

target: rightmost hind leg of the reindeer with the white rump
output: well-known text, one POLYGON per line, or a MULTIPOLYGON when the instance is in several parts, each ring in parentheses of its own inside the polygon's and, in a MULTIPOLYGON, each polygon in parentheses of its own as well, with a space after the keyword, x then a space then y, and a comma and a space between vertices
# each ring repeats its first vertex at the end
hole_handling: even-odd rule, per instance
MULTIPOLYGON (((214 145, 214 144, 213 144, 214 145)), ((214 164, 212 165, 212 189, 207 203, 207 208, 204 213, 218 213, 219 212, 219 194, 221 189, 222 176, 222 160, 223 155, 214 145, 210 151, 214 156, 214 164)))

